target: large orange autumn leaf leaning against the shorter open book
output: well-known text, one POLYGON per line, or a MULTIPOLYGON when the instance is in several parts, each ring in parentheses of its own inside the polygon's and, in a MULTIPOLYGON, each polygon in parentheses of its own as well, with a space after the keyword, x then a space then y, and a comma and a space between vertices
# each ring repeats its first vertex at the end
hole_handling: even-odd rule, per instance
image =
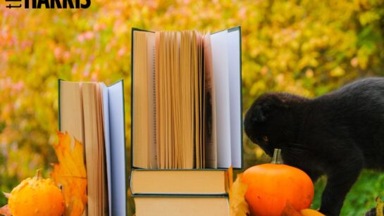
POLYGON ((82 215, 87 203, 87 172, 85 170, 83 146, 75 139, 71 146, 68 132, 57 132, 58 144, 54 145, 58 164, 54 164, 51 177, 58 186, 62 186, 66 202, 65 216, 82 215))

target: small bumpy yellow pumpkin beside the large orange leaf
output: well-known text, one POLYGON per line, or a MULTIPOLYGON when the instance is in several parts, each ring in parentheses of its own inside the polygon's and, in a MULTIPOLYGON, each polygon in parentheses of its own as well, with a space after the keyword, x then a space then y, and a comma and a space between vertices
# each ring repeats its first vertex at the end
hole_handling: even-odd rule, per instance
POLYGON ((51 179, 42 179, 41 170, 36 176, 23 180, 8 199, 13 216, 60 216, 64 212, 61 190, 51 179))

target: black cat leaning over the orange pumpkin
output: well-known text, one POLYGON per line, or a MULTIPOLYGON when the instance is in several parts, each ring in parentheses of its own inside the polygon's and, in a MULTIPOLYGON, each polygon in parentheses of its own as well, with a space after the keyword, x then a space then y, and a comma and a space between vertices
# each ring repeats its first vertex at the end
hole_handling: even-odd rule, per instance
POLYGON ((339 215, 363 168, 384 170, 384 78, 368 78, 315 99, 286 93, 259 96, 244 130, 268 155, 282 149, 283 162, 312 181, 326 174, 320 212, 339 215))

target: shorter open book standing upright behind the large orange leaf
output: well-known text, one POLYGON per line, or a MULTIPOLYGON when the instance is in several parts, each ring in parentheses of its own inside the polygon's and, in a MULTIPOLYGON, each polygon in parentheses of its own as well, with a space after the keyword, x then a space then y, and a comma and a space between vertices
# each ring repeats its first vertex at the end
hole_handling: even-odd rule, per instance
POLYGON ((58 81, 59 127, 85 146, 88 215, 126 215, 123 80, 58 81))

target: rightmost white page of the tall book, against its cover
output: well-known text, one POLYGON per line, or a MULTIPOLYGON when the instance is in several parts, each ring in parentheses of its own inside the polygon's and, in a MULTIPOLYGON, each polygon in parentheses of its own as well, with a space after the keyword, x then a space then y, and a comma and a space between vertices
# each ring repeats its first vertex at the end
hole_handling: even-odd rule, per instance
POLYGON ((229 91, 230 91, 230 144, 232 165, 234 168, 242 166, 242 110, 240 89, 240 29, 228 32, 228 63, 229 63, 229 91))

